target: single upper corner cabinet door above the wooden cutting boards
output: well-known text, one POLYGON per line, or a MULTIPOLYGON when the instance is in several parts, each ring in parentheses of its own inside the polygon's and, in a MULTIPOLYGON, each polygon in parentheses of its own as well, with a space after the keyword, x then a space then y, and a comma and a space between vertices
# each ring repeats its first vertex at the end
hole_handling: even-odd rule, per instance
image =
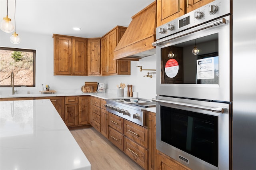
POLYGON ((100 38, 88 39, 88 75, 100 75, 100 38))

